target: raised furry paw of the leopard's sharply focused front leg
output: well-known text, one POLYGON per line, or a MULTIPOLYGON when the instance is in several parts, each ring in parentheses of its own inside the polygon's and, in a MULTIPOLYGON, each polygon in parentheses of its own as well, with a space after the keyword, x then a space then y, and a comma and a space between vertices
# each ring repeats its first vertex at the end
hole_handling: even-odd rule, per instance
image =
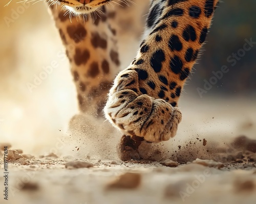
POLYGON ((148 142, 174 137, 181 121, 180 110, 163 99, 137 94, 133 89, 138 88, 138 77, 131 72, 121 73, 126 79, 119 78, 119 82, 115 82, 117 87, 111 89, 104 108, 106 118, 124 135, 139 136, 148 142))

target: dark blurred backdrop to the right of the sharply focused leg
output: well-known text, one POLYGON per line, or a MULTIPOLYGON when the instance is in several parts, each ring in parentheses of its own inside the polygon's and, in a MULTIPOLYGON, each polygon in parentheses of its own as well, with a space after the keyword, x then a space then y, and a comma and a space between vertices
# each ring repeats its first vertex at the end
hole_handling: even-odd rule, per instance
MULTIPOLYGON (((202 87, 204 79, 209 81, 212 71, 227 66, 228 73, 213 86, 211 94, 233 95, 236 97, 255 96, 256 80, 256 0, 220 1, 205 51, 195 66, 191 85, 202 87), (243 51, 247 40, 254 44, 248 51, 243 51), (233 54, 237 55, 237 58, 233 54), (231 57, 230 57, 231 56, 231 57)), ((247 45, 246 45, 247 47, 247 45)), ((249 49, 249 46, 248 46, 249 49)))

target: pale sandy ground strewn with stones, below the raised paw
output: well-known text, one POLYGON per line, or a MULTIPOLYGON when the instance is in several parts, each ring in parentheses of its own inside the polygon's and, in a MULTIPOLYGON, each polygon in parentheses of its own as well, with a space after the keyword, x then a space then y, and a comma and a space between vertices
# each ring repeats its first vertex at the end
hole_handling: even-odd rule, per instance
POLYGON ((256 199, 256 157, 243 163, 67 161, 50 155, 10 162, 7 203, 255 203, 256 199))

